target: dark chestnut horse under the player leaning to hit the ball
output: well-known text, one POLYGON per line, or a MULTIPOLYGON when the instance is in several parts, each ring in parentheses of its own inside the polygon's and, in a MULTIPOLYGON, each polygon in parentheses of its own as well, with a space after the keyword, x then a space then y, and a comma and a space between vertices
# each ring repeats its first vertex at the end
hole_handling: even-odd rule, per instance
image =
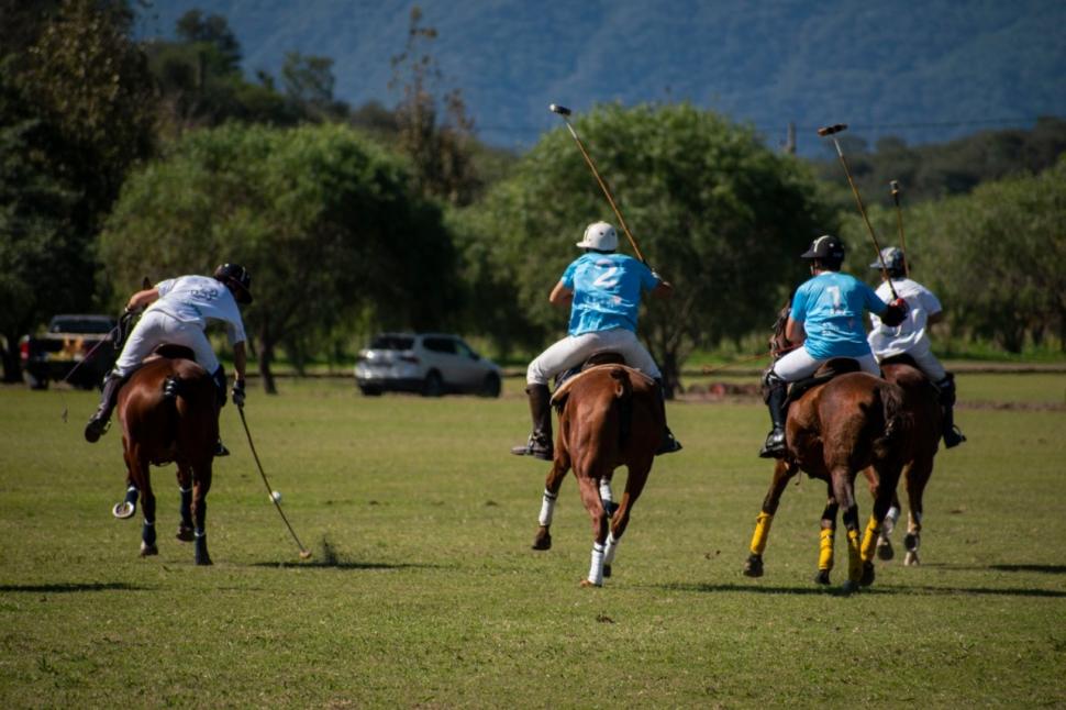
MULTIPOLYGON (((218 390, 188 348, 164 345, 119 391, 118 417, 129 484, 141 491, 141 556, 156 547, 155 495, 149 466, 175 462, 181 491, 178 540, 196 542, 196 564, 210 565, 206 498, 219 439, 218 390)), ((131 511, 132 514, 132 511, 131 511)))

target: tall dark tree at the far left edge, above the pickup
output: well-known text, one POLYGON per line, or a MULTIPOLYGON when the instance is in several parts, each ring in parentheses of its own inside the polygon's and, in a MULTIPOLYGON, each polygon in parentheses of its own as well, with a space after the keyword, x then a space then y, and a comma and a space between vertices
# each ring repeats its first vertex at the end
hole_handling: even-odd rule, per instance
POLYGON ((18 331, 92 307, 91 240, 153 149, 155 108, 126 2, 0 9, 0 291, 13 311, 0 320, 14 379, 18 331))

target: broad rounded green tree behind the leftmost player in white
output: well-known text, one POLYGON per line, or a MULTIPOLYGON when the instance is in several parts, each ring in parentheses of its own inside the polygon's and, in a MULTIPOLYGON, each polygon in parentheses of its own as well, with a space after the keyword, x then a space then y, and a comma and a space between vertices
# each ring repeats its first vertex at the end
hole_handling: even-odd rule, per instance
POLYGON ((131 177, 101 237, 115 289, 204 273, 253 274, 245 321, 267 391, 279 347, 304 353, 355 320, 441 328, 455 308, 451 240, 400 160, 338 124, 186 134, 131 177))

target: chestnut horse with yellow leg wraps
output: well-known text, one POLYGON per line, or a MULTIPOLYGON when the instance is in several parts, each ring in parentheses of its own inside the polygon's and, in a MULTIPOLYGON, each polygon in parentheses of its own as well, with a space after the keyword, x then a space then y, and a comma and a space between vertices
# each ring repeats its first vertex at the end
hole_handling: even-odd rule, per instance
MULTIPOLYGON (((778 319, 770 340, 775 357, 791 350, 784 334, 786 320, 778 319)), ((815 376, 846 369, 857 369, 857 364, 845 358, 833 359, 815 376)), ((903 391, 898 385, 863 371, 845 371, 824 381, 819 379, 795 401, 795 386, 790 393, 785 457, 774 467, 769 491, 756 519, 744 574, 763 576, 763 552, 781 495, 789 479, 802 470, 811 478, 824 480, 829 491, 822 512, 819 572, 814 580, 830 583, 836 512, 843 507, 848 553, 844 591, 854 591, 874 583, 875 546, 896 492, 900 467, 908 458, 904 448, 910 441, 911 421, 903 410, 903 391), (874 495, 874 511, 865 533, 860 533, 855 478, 864 470, 874 495)))

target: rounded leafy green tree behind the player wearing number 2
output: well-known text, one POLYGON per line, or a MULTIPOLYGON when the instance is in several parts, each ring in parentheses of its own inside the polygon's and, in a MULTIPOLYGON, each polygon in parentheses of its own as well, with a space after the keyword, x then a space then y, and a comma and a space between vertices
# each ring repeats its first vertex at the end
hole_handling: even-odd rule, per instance
MULTIPOLYGON (((647 304, 640 332, 676 386, 693 347, 773 321, 802 276, 797 255, 833 224, 799 162, 714 113, 690 104, 601 106, 574 124, 641 251, 675 286, 670 301, 647 304)), ((562 335, 565 315, 547 293, 578 255, 574 243, 585 226, 618 222, 564 129, 545 135, 482 204, 456 219, 464 264, 478 291, 493 295, 478 308, 489 311, 485 322, 504 348, 562 335)), ((620 249, 630 251, 621 231, 620 238, 620 249)))

